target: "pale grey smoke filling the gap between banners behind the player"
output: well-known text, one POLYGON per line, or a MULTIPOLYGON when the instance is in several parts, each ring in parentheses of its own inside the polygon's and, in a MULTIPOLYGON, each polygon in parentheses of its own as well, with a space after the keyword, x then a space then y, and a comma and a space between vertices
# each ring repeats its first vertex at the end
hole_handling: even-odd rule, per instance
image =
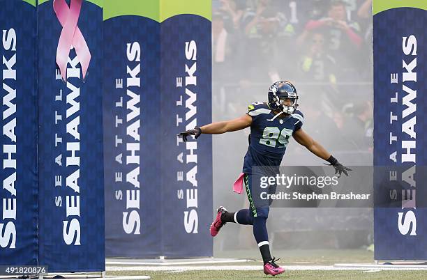
MULTIPOLYGON (((249 104, 266 101, 278 79, 292 81, 304 113, 303 129, 345 165, 373 162, 372 16, 345 6, 346 22, 359 41, 350 40, 337 22, 310 29, 339 10, 297 1, 230 3, 234 13, 213 4, 213 121, 246 114, 249 104), (260 11, 261 16, 255 17, 260 11), (359 13, 361 14, 361 13, 359 13), (335 36, 335 37, 334 37, 335 36), (334 45, 335 44, 335 45, 334 45)), ((217 3, 218 2, 218 3, 217 3)), ((234 212, 248 208, 246 194, 232 192, 248 148, 249 129, 213 136, 213 205, 234 212)), ((293 139, 282 165, 316 166, 315 157, 293 139)), ((216 209, 213 210, 215 212, 216 209)), ((267 227, 273 249, 343 249, 368 246, 373 233, 368 208, 274 208, 267 227)), ((251 226, 227 224, 214 238, 214 254, 257 247, 251 226)))

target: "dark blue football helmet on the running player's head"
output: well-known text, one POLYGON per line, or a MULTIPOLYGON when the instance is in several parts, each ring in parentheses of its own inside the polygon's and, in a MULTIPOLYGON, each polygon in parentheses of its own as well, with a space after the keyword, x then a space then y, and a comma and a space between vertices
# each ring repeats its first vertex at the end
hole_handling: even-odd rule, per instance
POLYGON ((294 114, 298 107, 297 88, 289 81, 276 81, 269 88, 268 104, 272 110, 294 114))

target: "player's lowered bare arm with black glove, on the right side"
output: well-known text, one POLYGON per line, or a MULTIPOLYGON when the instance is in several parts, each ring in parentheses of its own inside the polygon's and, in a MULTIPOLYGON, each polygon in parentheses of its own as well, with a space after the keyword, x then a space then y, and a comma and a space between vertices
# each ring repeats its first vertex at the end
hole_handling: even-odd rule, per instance
POLYGON ((302 128, 294 132, 292 136, 294 137, 295 141, 306 147, 308 150, 310 150, 311 153, 317 155, 317 157, 320 157, 322 160, 326 160, 331 166, 334 166, 335 173, 338 173, 338 177, 341 176, 341 173, 344 173, 348 176, 347 171, 352 170, 346 166, 343 166, 343 164, 340 164, 340 162, 338 162, 338 160, 333 157, 331 153, 323 148, 320 143, 311 138, 310 135, 304 132, 302 128))

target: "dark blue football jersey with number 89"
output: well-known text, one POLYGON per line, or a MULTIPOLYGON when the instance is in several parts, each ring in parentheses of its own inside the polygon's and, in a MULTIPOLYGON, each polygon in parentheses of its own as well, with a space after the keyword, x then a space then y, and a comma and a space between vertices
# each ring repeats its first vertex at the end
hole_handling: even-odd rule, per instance
POLYGON ((275 116, 267 103, 255 102, 248 107, 252 117, 250 144, 244 159, 243 172, 251 174, 252 166, 265 166, 263 173, 278 173, 287 143, 292 134, 304 123, 304 115, 297 110, 294 114, 275 116))

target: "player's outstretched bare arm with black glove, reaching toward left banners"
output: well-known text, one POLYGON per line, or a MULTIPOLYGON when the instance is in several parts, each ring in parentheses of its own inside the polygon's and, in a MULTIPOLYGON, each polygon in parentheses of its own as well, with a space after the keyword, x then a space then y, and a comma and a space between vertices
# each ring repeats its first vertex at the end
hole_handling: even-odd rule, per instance
POLYGON ((183 141, 187 141, 187 137, 194 135, 197 139, 200 134, 221 134, 225 132, 232 132, 237 130, 243 130, 246 127, 250 127, 252 124, 252 117, 249 115, 241 116, 240 118, 234 118, 234 120, 219 121, 217 123, 209 123, 209 125, 203 125, 202 127, 194 127, 193 130, 187 130, 178 134, 182 137, 183 141))

